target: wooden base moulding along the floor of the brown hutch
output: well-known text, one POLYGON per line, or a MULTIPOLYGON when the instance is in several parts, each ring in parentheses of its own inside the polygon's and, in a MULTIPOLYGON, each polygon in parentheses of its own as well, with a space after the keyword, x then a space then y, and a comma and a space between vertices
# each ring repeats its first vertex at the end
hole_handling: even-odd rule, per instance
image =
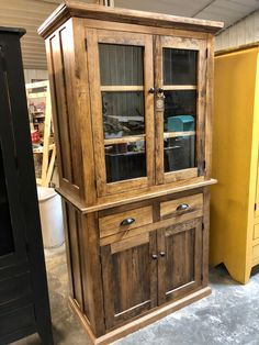
POLYGON ((80 311, 80 309, 78 308, 77 302, 69 298, 69 303, 70 307, 72 309, 72 311, 78 315, 82 326, 85 327, 90 341, 92 344, 94 345, 104 345, 104 344, 111 344, 112 342, 117 341, 119 338, 122 338, 124 336, 126 336, 130 333, 133 333, 137 330, 140 330, 147 325, 149 325, 150 323, 154 323, 155 321, 167 316, 168 314, 170 314, 173 311, 177 311, 188 304, 191 304, 200 299, 202 299, 203 297, 206 297, 211 293, 211 288, 206 287, 203 288, 199 291, 195 291, 176 302, 172 302, 170 304, 165 304, 161 307, 156 308, 155 310, 150 311, 148 314, 145 314, 144 316, 139 316, 138 319, 128 322, 127 324, 122 325, 119 329, 112 330, 111 332, 100 336, 100 337, 95 337, 95 335, 93 334, 89 322, 87 321, 86 316, 82 314, 82 312, 80 311))

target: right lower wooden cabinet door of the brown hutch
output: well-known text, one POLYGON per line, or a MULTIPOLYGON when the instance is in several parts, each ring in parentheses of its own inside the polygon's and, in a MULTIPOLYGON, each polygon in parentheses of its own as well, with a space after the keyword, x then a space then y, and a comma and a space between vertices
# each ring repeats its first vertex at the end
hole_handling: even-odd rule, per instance
POLYGON ((157 231, 158 304, 177 300, 202 283, 202 219, 157 231))

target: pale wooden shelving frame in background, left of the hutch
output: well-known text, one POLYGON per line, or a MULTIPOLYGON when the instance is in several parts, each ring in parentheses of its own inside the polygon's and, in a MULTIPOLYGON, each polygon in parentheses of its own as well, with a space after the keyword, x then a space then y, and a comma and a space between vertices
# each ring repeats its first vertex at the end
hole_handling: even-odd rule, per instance
POLYGON ((26 96, 32 116, 31 129, 40 133, 38 145, 33 145, 34 155, 42 155, 41 177, 36 177, 36 182, 48 187, 56 158, 48 80, 26 84, 26 96))

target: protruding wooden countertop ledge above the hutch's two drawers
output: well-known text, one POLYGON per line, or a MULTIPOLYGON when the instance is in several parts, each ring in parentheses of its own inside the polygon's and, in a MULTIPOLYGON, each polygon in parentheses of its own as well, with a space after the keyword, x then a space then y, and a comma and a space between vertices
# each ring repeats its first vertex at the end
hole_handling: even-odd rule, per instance
POLYGON ((215 185, 215 183, 217 183, 217 180, 214 178, 211 178, 209 180, 204 180, 204 181, 200 181, 200 182, 193 182, 193 183, 191 183, 189 181, 188 185, 183 182, 182 186, 173 187, 173 188, 166 187, 162 189, 158 189, 158 188, 160 188, 160 186, 155 186, 150 191, 147 191, 145 193, 140 192, 139 194, 134 194, 134 196, 128 197, 128 198, 125 198, 125 196, 122 197, 120 194, 119 196, 112 196, 112 198, 111 198, 111 196, 103 197, 94 205, 89 205, 89 207, 86 207, 82 202, 75 199, 70 193, 64 191, 61 188, 57 188, 56 191, 63 198, 65 198, 67 201, 71 202, 80 212, 90 213, 90 212, 97 212, 97 211, 119 207, 122 204, 122 200, 123 200, 123 204, 128 204, 128 203, 133 203, 133 202, 137 202, 137 201, 170 196, 170 194, 174 194, 174 193, 179 193, 179 192, 188 191, 188 190, 192 190, 192 189, 209 187, 209 186, 215 185), (156 190, 156 188, 157 188, 157 190, 156 190))

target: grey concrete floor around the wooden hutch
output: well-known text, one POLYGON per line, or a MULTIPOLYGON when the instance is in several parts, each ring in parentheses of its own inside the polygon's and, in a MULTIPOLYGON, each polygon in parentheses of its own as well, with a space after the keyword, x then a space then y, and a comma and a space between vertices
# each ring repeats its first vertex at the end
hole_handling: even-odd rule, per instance
MULTIPOLYGON (((57 345, 90 344, 67 304, 64 247, 46 253, 54 338, 57 345)), ((210 271, 212 294, 135 332, 116 345, 259 345, 259 268, 246 286, 223 267, 210 271)), ((13 345, 38 345, 37 335, 13 345)))

